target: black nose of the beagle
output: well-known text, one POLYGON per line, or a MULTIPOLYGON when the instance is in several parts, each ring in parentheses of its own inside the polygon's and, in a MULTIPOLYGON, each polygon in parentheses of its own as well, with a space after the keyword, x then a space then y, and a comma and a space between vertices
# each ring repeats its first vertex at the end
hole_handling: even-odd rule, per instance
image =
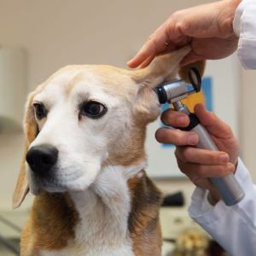
POLYGON ((57 158, 58 149, 48 144, 32 147, 26 153, 26 161, 32 172, 42 175, 49 172, 49 169, 55 165, 57 158))

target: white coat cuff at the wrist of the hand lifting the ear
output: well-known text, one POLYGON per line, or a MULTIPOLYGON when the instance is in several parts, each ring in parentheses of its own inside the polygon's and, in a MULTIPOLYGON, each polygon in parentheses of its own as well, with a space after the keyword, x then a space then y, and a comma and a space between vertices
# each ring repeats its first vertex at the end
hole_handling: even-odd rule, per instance
POLYGON ((256 69, 256 0, 243 0, 236 9, 233 28, 238 41, 238 57, 246 69, 256 69))

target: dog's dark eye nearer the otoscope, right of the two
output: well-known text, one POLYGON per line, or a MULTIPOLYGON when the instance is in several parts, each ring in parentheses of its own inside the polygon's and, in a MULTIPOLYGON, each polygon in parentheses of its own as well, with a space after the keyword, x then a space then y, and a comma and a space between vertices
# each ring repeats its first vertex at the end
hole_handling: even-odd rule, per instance
POLYGON ((107 108, 100 102, 84 102, 80 106, 80 114, 92 119, 98 119, 107 112, 107 108))

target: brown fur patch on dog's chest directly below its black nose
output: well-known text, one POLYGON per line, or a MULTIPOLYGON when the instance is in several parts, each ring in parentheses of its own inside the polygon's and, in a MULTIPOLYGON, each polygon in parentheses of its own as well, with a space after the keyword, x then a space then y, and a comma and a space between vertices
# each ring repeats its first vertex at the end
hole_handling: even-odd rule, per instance
POLYGON ((65 194, 41 193, 32 205, 30 218, 21 235, 21 256, 36 255, 38 249, 58 250, 74 238, 79 215, 73 201, 65 194), (31 250, 27 245, 32 246, 31 250), (30 253, 26 253, 30 252, 30 253))

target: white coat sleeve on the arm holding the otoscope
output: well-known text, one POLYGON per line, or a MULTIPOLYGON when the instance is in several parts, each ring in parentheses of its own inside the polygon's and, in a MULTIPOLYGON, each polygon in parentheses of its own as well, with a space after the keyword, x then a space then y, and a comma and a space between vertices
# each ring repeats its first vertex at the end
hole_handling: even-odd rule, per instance
POLYGON ((245 192, 236 206, 227 207, 224 201, 218 201, 212 207, 207 190, 196 188, 189 215, 232 256, 256 255, 256 187, 241 160, 236 178, 245 192))

